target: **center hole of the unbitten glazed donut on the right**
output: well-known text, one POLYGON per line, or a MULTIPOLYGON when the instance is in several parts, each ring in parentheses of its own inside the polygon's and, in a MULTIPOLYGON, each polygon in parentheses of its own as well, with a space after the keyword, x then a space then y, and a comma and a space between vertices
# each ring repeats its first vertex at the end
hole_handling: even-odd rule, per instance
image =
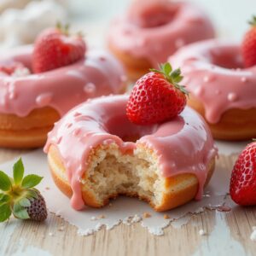
POLYGON ((244 68, 241 53, 226 48, 218 52, 212 51, 211 62, 213 65, 227 69, 244 68))

